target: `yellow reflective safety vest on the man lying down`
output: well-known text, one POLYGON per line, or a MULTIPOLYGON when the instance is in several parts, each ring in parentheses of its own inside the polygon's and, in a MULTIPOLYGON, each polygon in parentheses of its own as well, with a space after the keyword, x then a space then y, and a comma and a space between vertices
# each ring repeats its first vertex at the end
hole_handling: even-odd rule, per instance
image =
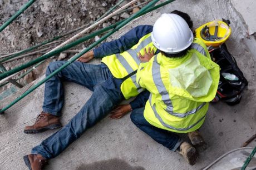
MULTIPOLYGON (((125 52, 120 54, 112 54, 111 56, 106 56, 102 59, 102 62, 109 67, 110 72, 115 78, 124 78, 128 74, 137 70, 140 65, 140 59, 137 53, 144 54, 144 48, 151 48, 151 51, 156 52, 151 40, 151 33, 146 34, 144 37, 140 38, 139 42, 132 46, 125 52)), ((136 83, 136 74, 127 78, 121 84, 121 92, 125 99, 137 96, 143 89, 136 83)))

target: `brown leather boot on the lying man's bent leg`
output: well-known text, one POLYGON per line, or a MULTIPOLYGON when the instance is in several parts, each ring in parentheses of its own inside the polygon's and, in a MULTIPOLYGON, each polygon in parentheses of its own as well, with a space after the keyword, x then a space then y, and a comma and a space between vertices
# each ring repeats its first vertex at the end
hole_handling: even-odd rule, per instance
POLYGON ((60 118, 49 113, 41 112, 37 116, 35 124, 26 126, 24 133, 40 133, 48 129, 57 129, 62 127, 60 118))

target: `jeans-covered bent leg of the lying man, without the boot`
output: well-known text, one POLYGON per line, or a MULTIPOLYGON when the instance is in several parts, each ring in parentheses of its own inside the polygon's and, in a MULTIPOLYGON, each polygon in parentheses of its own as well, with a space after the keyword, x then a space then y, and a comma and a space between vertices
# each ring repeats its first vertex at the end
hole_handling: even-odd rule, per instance
MULTIPOLYGON (((46 76, 60 68, 66 61, 52 62, 46 70, 46 76)), ((63 81, 75 82, 93 91, 93 87, 103 83, 109 78, 109 73, 102 68, 101 64, 87 64, 73 62, 62 69, 45 83, 45 97, 43 101, 43 112, 61 116, 63 105, 63 81)))

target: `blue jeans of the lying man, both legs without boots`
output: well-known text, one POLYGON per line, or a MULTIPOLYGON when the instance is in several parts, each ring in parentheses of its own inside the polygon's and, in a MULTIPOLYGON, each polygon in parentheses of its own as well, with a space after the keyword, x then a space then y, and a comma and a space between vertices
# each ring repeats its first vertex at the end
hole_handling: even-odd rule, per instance
MULTIPOLYGON (((65 61, 50 63, 46 76, 64 63, 65 61)), ((114 77, 104 64, 93 65, 73 62, 46 82, 43 102, 44 112, 61 116, 63 105, 62 81, 81 84, 93 91, 93 93, 91 98, 66 126, 32 149, 32 154, 41 154, 46 159, 58 156, 68 145, 79 138, 86 129, 99 122, 116 104, 119 104, 124 99, 120 87, 116 86, 114 77)))

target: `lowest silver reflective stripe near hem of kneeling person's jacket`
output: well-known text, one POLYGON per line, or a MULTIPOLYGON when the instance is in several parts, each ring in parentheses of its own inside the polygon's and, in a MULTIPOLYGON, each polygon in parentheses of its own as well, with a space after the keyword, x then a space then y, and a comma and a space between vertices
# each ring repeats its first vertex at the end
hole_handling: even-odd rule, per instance
POLYGON ((150 104, 152 110, 154 111, 155 117, 156 117, 156 118, 159 120, 159 122, 160 122, 164 127, 166 127, 166 128, 174 129, 174 130, 176 130, 176 131, 187 131, 188 129, 193 128, 194 126, 196 126, 196 124, 198 124, 199 122, 201 122, 201 121, 204 119, 204 117, 206 116, 206 114, 205 114, 205 115, 204 115, 203 117, 201 117, 196 123, 192 124, 191 126, 189 126, 189 127, 187 127, 187 128, 175 128, 175 127, 173 127, 173 126, 170 126, 169 124, 166 124, 166 123, 163 121, 163 119, 162 119, 162 118, 159 116, 159 114, 156 112, 155 105, 152 106, 151 99, 152 99, 152 94, 150 94, 150 96, 149 96, 149 104, 150 104))

